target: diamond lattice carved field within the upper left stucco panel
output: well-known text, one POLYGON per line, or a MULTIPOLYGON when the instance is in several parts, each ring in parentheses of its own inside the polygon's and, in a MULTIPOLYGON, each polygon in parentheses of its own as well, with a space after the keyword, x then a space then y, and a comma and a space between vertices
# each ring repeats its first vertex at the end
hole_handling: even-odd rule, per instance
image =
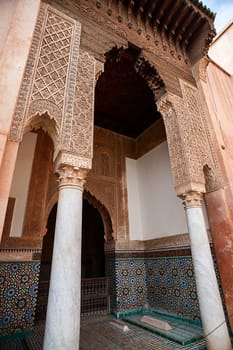
POLYGON ((63 107, 72 24, 48 12, 36 69, 32 100, 47 99, 63 107))

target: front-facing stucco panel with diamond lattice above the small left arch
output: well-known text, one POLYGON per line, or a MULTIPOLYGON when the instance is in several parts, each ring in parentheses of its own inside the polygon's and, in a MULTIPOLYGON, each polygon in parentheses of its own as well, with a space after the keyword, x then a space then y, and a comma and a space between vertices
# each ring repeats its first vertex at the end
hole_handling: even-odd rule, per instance
POLYGON ((36 115, 54 119, 58 135, 63 116, 72 118, 80 35, 80 23, 41 4, 9 139, 19 141, 36 115))

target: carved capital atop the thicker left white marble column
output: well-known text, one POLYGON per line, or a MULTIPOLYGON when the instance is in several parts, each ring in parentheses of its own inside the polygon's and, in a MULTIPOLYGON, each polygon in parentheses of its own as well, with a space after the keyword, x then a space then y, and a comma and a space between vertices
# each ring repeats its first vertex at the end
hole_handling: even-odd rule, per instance
POLYGON ((58 187, 72 186, 83 191, 88 169, 76 168, 72 165, 61 165, 56 169, 58 187))

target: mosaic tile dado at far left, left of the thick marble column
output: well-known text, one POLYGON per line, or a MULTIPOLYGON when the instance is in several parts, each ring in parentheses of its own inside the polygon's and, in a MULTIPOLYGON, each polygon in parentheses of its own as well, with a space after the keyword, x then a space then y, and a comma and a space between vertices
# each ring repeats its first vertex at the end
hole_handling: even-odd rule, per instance
POLYGON ((1 336, 32 328, 39 270, 39 261, 0 262, 1 336))

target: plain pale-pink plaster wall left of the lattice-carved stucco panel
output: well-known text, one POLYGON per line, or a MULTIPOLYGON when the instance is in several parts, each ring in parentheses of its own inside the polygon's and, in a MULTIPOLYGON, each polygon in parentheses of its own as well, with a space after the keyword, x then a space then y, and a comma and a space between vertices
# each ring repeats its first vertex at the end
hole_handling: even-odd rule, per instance
POLYGON ((0 165, 18 98, 40 0, 0 1, 0 165), (10 21, 7 21, 10 17, 10 21), (6 34, 7 33, 7 34, 6 34), (1 33, 0 33, 1 34, 1 33), (3 33, 2 33, 3 34, 3 33), (1 42, 3 40, 4 42, 1 42))

